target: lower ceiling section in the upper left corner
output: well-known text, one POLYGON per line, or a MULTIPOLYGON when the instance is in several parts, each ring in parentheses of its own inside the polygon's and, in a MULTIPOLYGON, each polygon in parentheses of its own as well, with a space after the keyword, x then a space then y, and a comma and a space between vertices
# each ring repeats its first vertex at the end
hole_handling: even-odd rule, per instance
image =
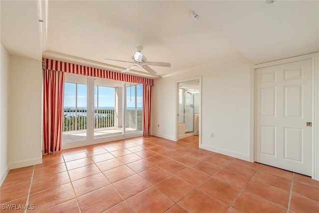
POLYGON ((0 0, 1 44, 10 55, 40 60, 41 39, 36 1, 0 0))

